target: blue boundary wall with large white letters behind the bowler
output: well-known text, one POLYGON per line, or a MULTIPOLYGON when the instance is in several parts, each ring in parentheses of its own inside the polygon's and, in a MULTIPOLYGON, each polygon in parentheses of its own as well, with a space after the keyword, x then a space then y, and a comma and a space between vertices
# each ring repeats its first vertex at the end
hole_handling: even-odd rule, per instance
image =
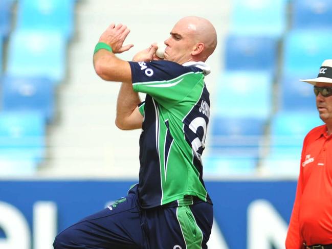
MULTIPOLYGON (((134 181, 0 181, 0 248, 53 248, 55 235, 125 196, 134 181)), ((206 182, 214 203, 209 248, 281 249, 292 212, 295 180, 206 182)))

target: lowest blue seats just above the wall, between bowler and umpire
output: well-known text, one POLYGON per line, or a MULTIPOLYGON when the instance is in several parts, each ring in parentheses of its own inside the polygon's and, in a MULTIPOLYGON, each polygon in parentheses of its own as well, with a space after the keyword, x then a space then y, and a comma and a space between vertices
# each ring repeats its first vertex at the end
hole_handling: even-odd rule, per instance
POLYGON ((212 124, 206 174, 257 172, 285 176, 299 170, 301 148, 307 132, 322 121, 315 111, 280 111, 268 121, 254 118, 215 118, 212 124))

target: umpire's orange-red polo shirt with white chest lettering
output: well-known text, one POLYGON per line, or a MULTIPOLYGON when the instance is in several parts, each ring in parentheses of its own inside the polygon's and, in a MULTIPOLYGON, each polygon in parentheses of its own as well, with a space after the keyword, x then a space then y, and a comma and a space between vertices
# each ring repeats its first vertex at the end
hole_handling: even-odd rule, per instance
POLYGON ((332 135, 326 125, 305 137, 287 249, 332 244, 332 135))

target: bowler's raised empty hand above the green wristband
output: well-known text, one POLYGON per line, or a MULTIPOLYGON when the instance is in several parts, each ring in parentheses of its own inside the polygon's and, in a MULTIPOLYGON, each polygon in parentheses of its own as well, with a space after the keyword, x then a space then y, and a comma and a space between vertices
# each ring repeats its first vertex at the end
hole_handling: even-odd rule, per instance
POLYGON ((123 42, 129 33, 130 30, 127 28, 127 26, 122 24, 111 24, 104 31, 104 33, 102 33, 99 38, 99 42, 105 42, 109 44, 109 46, 112 47, 113 53, 120 54, 134 47, 133 44, 123 46, 123 42))

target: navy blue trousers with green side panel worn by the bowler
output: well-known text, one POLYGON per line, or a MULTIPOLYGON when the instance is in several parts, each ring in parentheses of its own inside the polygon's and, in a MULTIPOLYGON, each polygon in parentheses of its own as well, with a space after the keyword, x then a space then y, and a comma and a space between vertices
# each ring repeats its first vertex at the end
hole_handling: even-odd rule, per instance
POLYGON ((212 205, 141 209, 137 187, 108 208, 88 216, 57 235, 55 249, 198 249, 207 248, 212 205))

